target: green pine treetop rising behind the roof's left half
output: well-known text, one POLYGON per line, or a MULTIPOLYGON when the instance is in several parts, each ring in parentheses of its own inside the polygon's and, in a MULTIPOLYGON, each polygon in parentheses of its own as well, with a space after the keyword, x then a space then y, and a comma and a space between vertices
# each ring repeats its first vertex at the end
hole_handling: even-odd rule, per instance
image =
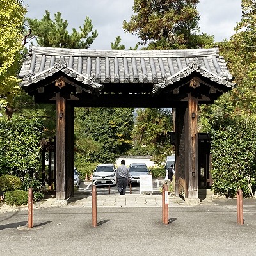
POLYGON ((83 27, 79 26, 80 31, 72 28, 72 33, 68 33, 68 22, 62 19, 61 13, 54 13, 51 20, 47 10, 41 20, 27 18, 26 27, 25 43, 36 38, 37 44, 44 47, 88 49, 98 36, 97 30, 92 31, 92 20, 88 16, 83 27))

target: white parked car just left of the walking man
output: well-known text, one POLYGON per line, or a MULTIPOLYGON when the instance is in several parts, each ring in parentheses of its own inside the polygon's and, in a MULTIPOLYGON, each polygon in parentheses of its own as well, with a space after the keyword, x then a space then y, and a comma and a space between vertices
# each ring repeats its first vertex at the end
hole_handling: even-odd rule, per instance
POLYGON ((116 169, 114 164, 99 164, 93 171, 92 184, 116 185, 116 169))

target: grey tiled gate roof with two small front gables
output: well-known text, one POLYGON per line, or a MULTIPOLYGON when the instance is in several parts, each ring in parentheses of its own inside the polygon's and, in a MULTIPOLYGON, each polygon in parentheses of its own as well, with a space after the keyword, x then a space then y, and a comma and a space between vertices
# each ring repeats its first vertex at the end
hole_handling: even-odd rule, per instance
POLYGON ((63 72, 97 90, 104 84, 143 83, 154 84, 154 93, 194 71, 221 86, 235 85, 218 48, 105 51, 32 46, 19 76, 25 89, 63 72))

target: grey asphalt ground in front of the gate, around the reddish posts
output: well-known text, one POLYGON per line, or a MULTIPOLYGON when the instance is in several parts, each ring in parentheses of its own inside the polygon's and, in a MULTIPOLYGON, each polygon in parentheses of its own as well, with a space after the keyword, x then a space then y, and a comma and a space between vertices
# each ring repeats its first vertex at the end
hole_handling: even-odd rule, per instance
MULTIPOLYGON (((115 196, 117 201, 136 197, 150 201, 157 195, 115 196)), ((255 199, 243 200, 244 225, 237 224, 236 200, 186 205, 169 196, 168 225, 161 207, 138 204, 98 207, 97 227, 92 207, 80 200, 35 207, 30 229, 26 207, 2 211, 0 255, 256 255, 255 199)))

